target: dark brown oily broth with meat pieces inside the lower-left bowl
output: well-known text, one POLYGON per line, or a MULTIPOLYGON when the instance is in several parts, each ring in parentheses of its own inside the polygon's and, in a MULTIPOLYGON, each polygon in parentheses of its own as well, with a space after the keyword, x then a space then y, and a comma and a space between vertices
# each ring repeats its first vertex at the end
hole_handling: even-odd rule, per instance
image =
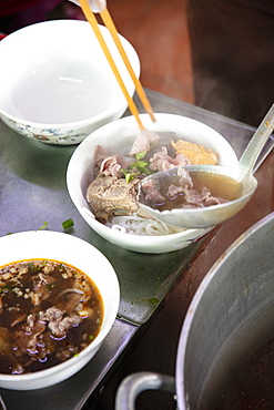
POLYGON ((0 267, 0 373, 44 370, 79 355, 103 314, 97 285, 71 265, 29 259, 0 267))

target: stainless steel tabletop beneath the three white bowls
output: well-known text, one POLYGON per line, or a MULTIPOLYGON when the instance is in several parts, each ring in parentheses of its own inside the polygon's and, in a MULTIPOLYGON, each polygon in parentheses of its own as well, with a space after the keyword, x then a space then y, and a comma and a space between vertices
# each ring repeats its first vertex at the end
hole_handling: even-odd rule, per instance
MULTIPOLYGON (((162 94, 148 91, 148 96, 155 112, 190 116, 214 127, 229 140, 239 156, 254 132, 248 125, 162 94)), ((72 218, 74 227, 68 234, 94 245, 115 268, 121 286, 119 315, 123 320, 115 320, 97 356, 65 382, 23 393, 1 389, 8 409, 18 409, 19 402, 26 409, 81 409, 103 383, 125 347, 138 339, 139 325, 149 320, 158 301, 165 297, 199 248, 195 244, 172 254, 143 255, 99 237, 79 215, 67 193, 65 171, 74 150, 75 146, 50 146, 27 140, 0 122, 0 235, 38 229, 44 222, 49 229, 62 232, 62 222, 72 218)))

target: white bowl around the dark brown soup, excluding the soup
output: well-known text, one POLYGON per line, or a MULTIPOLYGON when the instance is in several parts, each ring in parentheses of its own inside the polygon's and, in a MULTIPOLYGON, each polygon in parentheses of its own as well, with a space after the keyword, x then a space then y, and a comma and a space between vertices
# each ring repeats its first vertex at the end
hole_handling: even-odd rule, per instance
POLYGON ((32 390, 68 379, 95 355, 115 320, 120 288, 114 269, 92 245, 63 233, 38 230, 2 236, 0 248, 0 266, 29 258, 55 259, 79 268, 98 286, 104 304, 104 318, 97 338, 79 356, 49 369, 27 375, 0 373, 0 387, 32 390))

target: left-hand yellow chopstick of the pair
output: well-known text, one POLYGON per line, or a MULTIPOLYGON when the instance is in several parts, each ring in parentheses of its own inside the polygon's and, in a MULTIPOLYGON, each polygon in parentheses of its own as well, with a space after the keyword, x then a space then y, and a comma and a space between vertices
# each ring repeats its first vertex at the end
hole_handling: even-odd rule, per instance
MULTIPOLYGON (((128 101, 128 104, 129 104, 129 109, 130 109, 130 111, 131 111, 131 113, 132 113, 132 115, 134 115, 134 117, 135 117, 135 120, 136 120, 136 122, 138 122, 138 124, 139 124, 139 127, 140 127, 140 130, 144 130, 144 126, 143 126, 143 123, 142 123, 142 121, 141 121, 141 119, 140 119, 140 116, 139 116, 139 111, 138 111, 138 107, 136 107, 136 105, 135 105, 135 103, 134 103, 134 101, 132 100, 132 98, 130 96, 130 94, 129 94, 129 92, 128 92, 128 90, 126 90, 126 88, 125 88, 125 85, 124 85, 124 82, 123 82, 123 80, 122 80, 122 78, 121 78, 121 75, 120 75, 120 73, 119 73, 119 70, 118 70, 118 68, 116 68, 116 64, 115 64, 115 62, 114 62, 114 60, 113 60, 113 58, 112 58, 112 55, 111 55, 111 53, 110 53, 110 50, 109 50, 109 48, 108 48, 108 45, 106 45, 106 43, 105 43, 105 41, 104 41, 104 38, 103 38, 103 35, 102 35, 102 33, 101 33, 101 30, 100 30, 100 27, 99 27, 99 24, 98 24, 98 21, 97 21, 97 19, 95 19, 95 16, 94 16, 94 13, 93 13, 93 11, 90 9, 90 4, 89 4, 89 2, 88 2, 88 0, 79 0, 79 2, 80 2, 80 6, 81 6, 81 8, 82 8, 82 11, 83 11, 83 13, 84 13, 84 16, 85 16, 85 19, 88 20, 88 22, 91 24, 91 27, 92 27, 92 29, 93 29, 93 31, 94 31, 94 33, 95 33, 95 35, 97 35, 97 38, 98 38, 98 41, 99 41, 99 43, 100 43, 100 45, 101 45, 101 48, 102 48, 102 50, 103 50, 103 52, 104 52, 104 54, 105 54, 105 57, 106 57, 106 59, 108 59, 108 61, 109 61, 109 63, 110 63, 110 66, 111 66, 111 69, 112 69, 112 71, 113 71, 113 73, 114 73, 114 75, 115 75, 115 78, 116 78, 116 80, 118 80, 118 83, 119 83, 119 85, 120 85, 120 88, 121 88, 121 90, 122 90, 122 92, 123 92, 123 94, 124 94, 124 96, 125 96, 125 99, 126 99, 126 101, 128 101)), ((113 24, 114 25, 114 24, 113 24)), ((109 29, 110 30, 110 29, 109 29)), ((113 31, 113 28, 112 28, 112 31, 113 31)), ((114 39, 113 39, 114 40, 114 39)), ((122 45, 122 44, 121 44, 122 45)), ((120 51, 120 49, 119 49, 119 51, 120 51)), ((120 51, 120 53, 121 53, 121 51, 120 51)), ((124 53, 125 54, 125 53, 124 53)), ((126 54, 125 54, 126 55, 126 54)), ((129 60, 129 59, 128 59, 129 60)), ((126 66, 128 66, 128 64, 126 64, 126 66)), ((129 69, 128 69, 129 70, 129 69)), ((133 71, 133 70, 132 70, 133 71)), ((134 74, 134 72, 133 72, 133 74, 134 74)), ((140 90, 140 88, 139 88, 139 90, 140 90)), ((148 104, 146 104, 148 105, 148 104)), ((152 112, 152 109, 150 109, 151 110, 151 112, 152 112)), ((153 114, 152 114, 153 115, 153 114)), ((154 115, 153 115, 153 117, 154 117, 154 115)), ((153 121, 155 121, 155 119, 153 120, 153 121)))

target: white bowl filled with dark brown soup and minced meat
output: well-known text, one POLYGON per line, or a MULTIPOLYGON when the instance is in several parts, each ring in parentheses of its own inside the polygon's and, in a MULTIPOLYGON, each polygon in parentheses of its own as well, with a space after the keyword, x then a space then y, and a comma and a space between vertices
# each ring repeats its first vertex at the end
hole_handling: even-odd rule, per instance
POLYGON ((119 307, 114 269, 92 245, 57 232, 0 238, 0 387, 32 390, 78 372, 119 307))

